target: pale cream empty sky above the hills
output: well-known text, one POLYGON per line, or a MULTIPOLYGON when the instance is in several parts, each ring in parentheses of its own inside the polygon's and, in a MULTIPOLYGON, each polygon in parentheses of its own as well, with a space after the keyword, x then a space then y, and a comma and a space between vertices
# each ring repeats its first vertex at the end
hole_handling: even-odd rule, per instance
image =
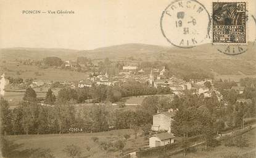
MULTIPOLYGON (((161 33, 160 17, 171 2, 0 0, 0 48, 88 50, 126 43, 170 45, 161 33), (23 10, 73 10, 75 14, 22 14, 23 10)), ((211 14, 212 1, 200 2, 211 14)), ((256 6, 256 1, 247 0, 247 6, 256 15, 255 7, 252 7, 256 6)))

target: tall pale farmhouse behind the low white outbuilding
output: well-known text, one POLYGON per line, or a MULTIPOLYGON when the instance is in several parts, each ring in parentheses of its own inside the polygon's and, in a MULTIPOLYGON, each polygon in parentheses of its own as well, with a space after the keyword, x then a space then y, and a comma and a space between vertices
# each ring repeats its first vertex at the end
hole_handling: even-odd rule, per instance
POLYGON ((175 114, 176 111, 173 111, 173 109, 169 109, 168 111, 154 114, 153 125, 151 127, 151 130, 171 130, 171 121, 173 120, 173 116, 175 116, 175 114))

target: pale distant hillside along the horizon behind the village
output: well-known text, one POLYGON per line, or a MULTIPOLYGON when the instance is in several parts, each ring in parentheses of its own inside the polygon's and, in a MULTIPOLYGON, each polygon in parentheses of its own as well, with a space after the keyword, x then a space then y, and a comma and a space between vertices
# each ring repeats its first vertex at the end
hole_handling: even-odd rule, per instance
MULTIPOLYGON (((255 45, 249 44, 250 49, 241 55, 225 55, 218 52, 223 46, 204 44, 192 49, 180 49, 177 47, 163 47, 147 44, 123 44, 110 47, 102 47, 94 50, 70 50, 70 49, 29 49, 12 48, 1 49, 2 60, 14 60, 15 58, 31 58, 40 60, 44 57, 56 56, 62 60, 76 60, 79 56, 101 60, 108 57, 113 59, 125 59, 134 57, 137 61, 165 61, 177 66, 173 71, 188 71, 190 69, 204 69, 218 75, 252 76, 256 74, 255 45)), ((189 70, 191 71, 191 70, 189 70)))

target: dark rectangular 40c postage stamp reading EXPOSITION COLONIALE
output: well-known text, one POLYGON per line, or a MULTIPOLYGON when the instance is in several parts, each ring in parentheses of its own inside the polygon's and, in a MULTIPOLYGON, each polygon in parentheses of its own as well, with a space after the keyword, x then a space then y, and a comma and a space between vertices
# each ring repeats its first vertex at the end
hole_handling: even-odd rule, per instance
POLYGON ((213 44, 246 44, 246 2, 213 2, 213 44))

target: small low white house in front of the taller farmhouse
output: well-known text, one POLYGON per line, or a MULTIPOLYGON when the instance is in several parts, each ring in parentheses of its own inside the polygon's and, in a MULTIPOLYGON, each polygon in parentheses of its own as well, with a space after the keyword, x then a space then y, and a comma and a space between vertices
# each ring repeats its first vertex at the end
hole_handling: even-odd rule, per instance
POLYGON ((164 146, 174 143, 175 136, 171 133, 159 133, 149 137, 149 147, 164 146))

